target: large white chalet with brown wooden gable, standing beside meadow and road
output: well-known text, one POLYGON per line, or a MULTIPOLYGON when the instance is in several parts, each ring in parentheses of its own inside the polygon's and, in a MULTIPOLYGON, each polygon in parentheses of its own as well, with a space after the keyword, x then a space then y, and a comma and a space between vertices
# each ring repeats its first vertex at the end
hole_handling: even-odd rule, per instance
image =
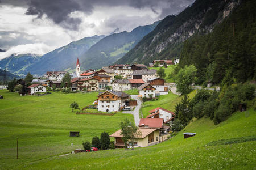
POLYGON ((102 112, 117 112, 125 105, 125 100, 129 100, 130 95, 124 92, 115 92, 107 90, 98 95, 98 111, 102 112))

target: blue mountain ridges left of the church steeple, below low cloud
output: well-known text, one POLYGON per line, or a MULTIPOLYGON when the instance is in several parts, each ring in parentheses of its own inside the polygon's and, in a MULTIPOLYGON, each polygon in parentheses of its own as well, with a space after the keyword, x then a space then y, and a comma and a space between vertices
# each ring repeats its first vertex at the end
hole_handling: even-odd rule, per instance
POLYGON ((85 37, 44 54, 42 57, 34 54, 12 55, 2 59, 0 67, 4 68, 6 65, 6 70, 22 76, 27 75, 28 72, 33 75, 43 75, 46 71, 68 69, 71 63, 75 65, 78 56, 103 37, 105 36, 85 37))

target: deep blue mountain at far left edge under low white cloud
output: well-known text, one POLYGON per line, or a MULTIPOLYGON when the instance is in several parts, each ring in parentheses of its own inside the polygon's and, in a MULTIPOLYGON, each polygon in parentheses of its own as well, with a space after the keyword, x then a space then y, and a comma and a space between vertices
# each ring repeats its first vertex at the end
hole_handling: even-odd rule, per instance
POLYGON ((2 69, 5 69, 6 67, 6 70, 10 71, 11 73, 23 75, 24 70, 28 66, 38 62, 39 60, 40 56, 36 54, 13 54, 9 57, 3 58, 0 61, 0 67, 2 69))

